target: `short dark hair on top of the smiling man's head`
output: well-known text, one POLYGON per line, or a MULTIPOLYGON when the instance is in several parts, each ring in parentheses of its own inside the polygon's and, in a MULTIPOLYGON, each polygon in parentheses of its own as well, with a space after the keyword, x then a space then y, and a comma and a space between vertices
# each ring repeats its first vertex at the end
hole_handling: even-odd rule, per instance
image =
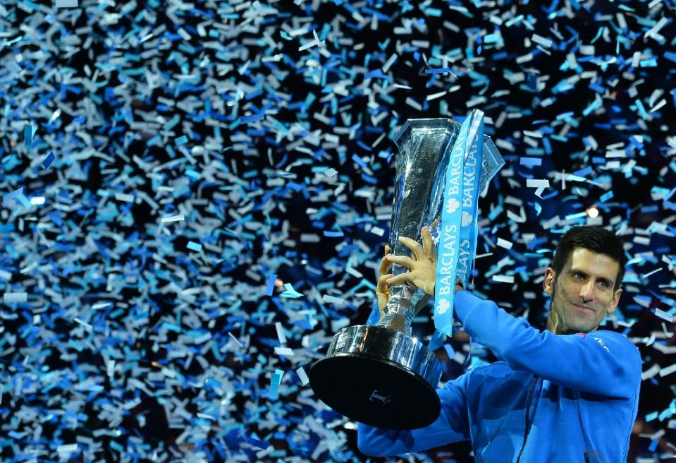
POLYGON ((567 262, 570 253, 576 248, 585 248, 595 253, 608 255, 608 257, 620 264, 620 271, 617 272, 615 287, 613 289, 620 287, 622 278, 625 277, 627 256, 625 255, 625 248, 622 246, 622 240, 616 234, 598 225, 572 227, 561 236, 556 245, 552 267, 557 276, 561 269, 563 269, 563 265, 567 262))

